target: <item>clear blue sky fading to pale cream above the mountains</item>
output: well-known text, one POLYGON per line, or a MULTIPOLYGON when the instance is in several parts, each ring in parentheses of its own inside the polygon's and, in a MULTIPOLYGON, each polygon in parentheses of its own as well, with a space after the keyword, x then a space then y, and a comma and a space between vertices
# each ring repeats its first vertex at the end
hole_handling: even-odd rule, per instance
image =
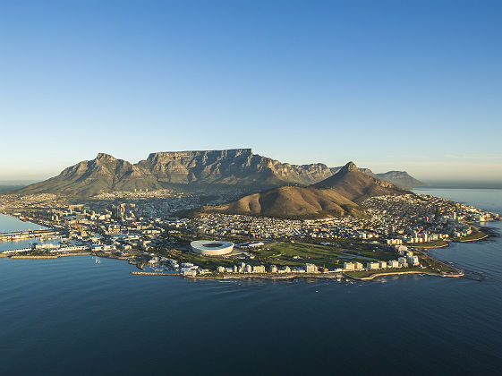
POLYGON ((0 2, 0 180, 106 152, 502 182, 501 1, 0 2))

